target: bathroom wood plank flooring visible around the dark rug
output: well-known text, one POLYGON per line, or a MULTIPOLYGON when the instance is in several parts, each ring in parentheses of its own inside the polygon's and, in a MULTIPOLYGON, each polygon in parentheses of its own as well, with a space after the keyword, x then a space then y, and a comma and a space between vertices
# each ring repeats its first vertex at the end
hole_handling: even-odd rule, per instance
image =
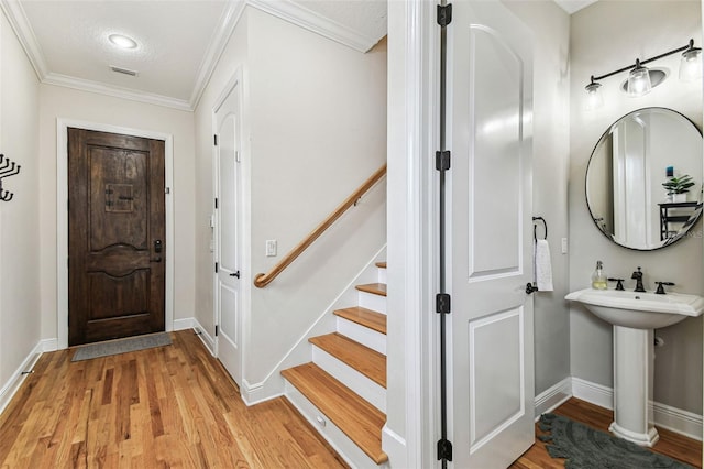
MULTIPOLYGON (((572 397, 553 411, 573 421, 581 422, 592 428, 608 432, 608 426, 614 421, 614 413, 588 402, 572 397)), ((690 466, 702 467, 702 441, 686 438, 676 433, 658 428, 660 441, 656 444, 653 451, 667 455, 690 466)), ((536 424, 536 435, 544 433, 536 424)), ((563 468, 564 459, 552 459, 546 449, 546 444, 536 438, 536 444, 516 460, 512 469, 552 469, 563 468)))

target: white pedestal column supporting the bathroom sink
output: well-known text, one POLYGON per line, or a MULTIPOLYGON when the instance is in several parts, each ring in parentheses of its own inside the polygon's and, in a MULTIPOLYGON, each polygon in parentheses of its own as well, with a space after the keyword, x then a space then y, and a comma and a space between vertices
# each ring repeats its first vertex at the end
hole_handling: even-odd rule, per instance
POLYGON ((658 439, 652 425, 654 366, 652 329, 614 326, 614 422, 616 436, 651 447, 658 439))

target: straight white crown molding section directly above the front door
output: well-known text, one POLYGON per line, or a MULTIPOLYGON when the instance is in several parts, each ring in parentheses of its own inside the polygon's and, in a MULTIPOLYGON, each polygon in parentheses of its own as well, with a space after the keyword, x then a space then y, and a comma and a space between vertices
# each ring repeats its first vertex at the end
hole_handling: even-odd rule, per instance
POLYGON ((168 96, 156 95, 154 92, 139 91, 130 88, 121 88, 113 85, 106 85, 99 81, 70 77, 61 74, 48 74, 42 80, 45 85, 63 86, 80 91, 96 92, 99 95, 112 96, 116 98, 129 99, 131 101, 145 102, 147 105, 163 106, 165 108, 178 109, 180 111, 193 111, 190 103, 185 99, 170 98, 168 96))

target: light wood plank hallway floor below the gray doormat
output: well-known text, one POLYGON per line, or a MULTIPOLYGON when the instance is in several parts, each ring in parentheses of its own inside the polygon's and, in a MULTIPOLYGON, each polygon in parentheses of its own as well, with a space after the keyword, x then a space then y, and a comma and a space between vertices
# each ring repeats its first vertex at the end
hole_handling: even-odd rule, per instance
POLYGON ((246 407, 190 330, 70 362, 45 353, 0 415, 0 468, 344 468, 285 399, 246 407))

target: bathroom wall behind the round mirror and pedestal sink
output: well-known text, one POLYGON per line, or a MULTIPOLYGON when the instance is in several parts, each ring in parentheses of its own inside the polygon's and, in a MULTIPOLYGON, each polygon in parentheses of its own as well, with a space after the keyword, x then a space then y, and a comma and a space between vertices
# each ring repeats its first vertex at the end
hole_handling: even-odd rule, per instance
MULTIPOLYGON (((584 108, 584 86, 601 75, 683 46, 690 37, 702 44, 698 1, 598 1, 572 15, 571 23, 571 144, 570 144, 570 290, 590 285, 596 260, 607 275, 630 279, 637 266, 645 272, 646 288, 654 281, 672 281, 675 292, 704 293, 702 225, 676 244, 652 252, 631 251, 609 242, 590 218, 584 199, 586 165, 602 133, 622 116, 649 106, 679 111, 701 128, 701 84, 678 79, 679 55, 652 66, 670 68, 671 76, 641 98, 627 98, 617 88, 620 74, 603 81, 605 106, 584 108)), ((635 281, 626 282, 632 288, 635 281)), ((612 327, 580 306, 570 308, 572 375, 613 385, 612 327)), ((657 331, 666 346, 657 349, 654 400, 681 410, 702 412, 702 318, 686 319, 657 331)))

